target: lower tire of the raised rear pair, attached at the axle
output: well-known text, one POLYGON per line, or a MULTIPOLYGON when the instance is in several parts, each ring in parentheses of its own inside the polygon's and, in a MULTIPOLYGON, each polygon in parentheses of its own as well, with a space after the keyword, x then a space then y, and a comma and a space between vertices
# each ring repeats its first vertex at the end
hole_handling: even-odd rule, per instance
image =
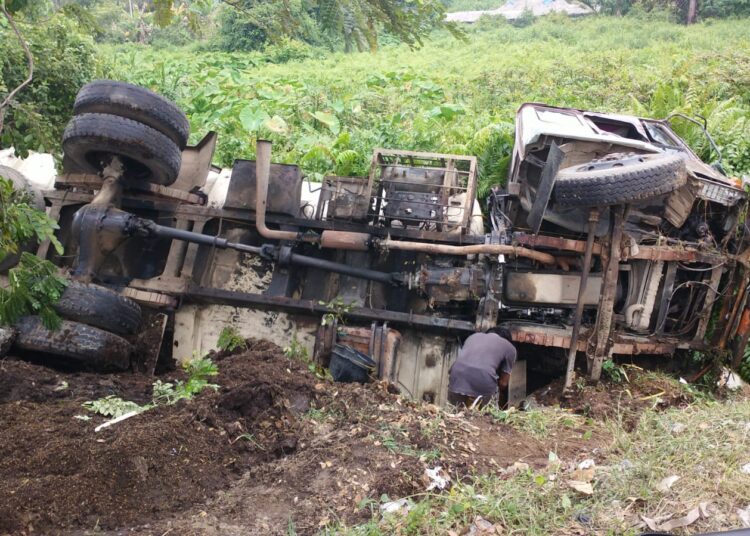
POLYGON ((119 156, 131 178, 163 186, 175 181, 182 162, 179 147, 161 132, 109 114, 74 116, 63 133, 63 151, 90 173, 119 156))

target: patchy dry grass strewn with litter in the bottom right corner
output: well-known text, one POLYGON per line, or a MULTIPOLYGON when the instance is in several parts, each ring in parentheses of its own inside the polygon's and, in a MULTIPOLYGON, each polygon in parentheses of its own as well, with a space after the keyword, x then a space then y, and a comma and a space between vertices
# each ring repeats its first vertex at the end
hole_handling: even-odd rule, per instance
MULTIPOLYGON (((711 515, 691 525, 692 532, 737 526, 732 516, 750 497, 750 475, 740 471, 750 461, 750 401, 701 402, 682 410, 647 411, 632 433, 623 431, 616 421, 610 425, 613 443, 596 460, 591 496, 567 484, 577 460, 562 459, 542 470, 490 474, 455 483, 449 492, 413 497, 416 506, 406 516, 381 519, 376 512, 368 523, 340 525, 327 533, 462 533, 481 516, 502 533, 637 534, 641 531, 634 524, 639 515, 678 518, 701 502, 709 504, 711 515), (675 423, 684 425, 678 433, 675 423), (671 475, 681 478, 668 491, 659 491, 657 484, 671 475)), ((551 432, 566 424, 552 417, 547 426, 551 432)))

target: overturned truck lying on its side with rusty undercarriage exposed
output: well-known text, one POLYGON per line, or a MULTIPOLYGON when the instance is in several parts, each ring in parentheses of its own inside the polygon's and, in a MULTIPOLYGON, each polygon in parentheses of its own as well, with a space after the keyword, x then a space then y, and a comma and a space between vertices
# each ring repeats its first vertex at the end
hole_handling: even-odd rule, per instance
MULTIPOLYGON (((217 136, 188 146, 187 125, 146 90, 94 82, 44 192, 65 253, 38 255, 140 304, 134 331, 156 350, 139 367, 153 370, 159 348, 211 346, 227 324, 323 365, 352 346, 435 403, 462 338, 497 325, 521 349, 516 399, 527 367, 559 374, 568 354, 593 379, 613 356, 722 348, 739 364, 747 195, 718 150, 702 162, 669 120, 523 105, 507 184, 484 213, 471 156, 376 149, 369 176, 312 184, 262 140, 226 196, 209 196, 217 136)), ((65 353, 49 346, 29 349, 65 353)))

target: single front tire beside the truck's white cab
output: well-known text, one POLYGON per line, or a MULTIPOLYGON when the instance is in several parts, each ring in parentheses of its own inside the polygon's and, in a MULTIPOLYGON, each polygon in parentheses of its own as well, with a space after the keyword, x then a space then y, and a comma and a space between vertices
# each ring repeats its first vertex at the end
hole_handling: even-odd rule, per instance
POLYGON ((668 194, 687 181, 682 156, 669 153, 615 153, 561 169, 555 202, 570 207, 619 205, 668 194))

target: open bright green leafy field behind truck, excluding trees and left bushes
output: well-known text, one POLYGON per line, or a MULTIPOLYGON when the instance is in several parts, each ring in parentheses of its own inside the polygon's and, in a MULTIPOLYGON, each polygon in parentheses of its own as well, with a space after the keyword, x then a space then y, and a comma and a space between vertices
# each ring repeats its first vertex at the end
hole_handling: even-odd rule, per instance
MULTIPOLYGON (((488 19, 465 41, 438 34, 419 50, 324 55, 289 46, 274 54, 132 44, 106 52, 111 76, 183 107, 194 141, 219 132, 222 166, 252 157, 262 136, 274 141, 276 160, 317 176, 364 173, 379 146, 471 153, 487 187, 505 177, 516 109, 536 101, 651 117, 701 114, 728 171, 750 171, 746 20, 685 27, 549 16, 517 28, 488 19)), ((711 160, 700 131, 675 126, 711 160)))

